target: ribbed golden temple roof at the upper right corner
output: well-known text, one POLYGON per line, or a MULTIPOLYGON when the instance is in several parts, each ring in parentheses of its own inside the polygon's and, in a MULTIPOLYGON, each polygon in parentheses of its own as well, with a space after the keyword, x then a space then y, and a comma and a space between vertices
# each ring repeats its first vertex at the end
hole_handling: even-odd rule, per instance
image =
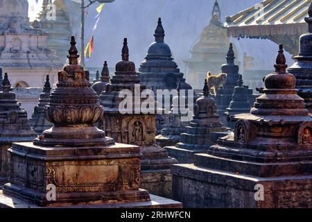
POLYGON ((225 27, 233 37, 301 34, 308 31, 311 0, 264 0, 226 18, 225 27))

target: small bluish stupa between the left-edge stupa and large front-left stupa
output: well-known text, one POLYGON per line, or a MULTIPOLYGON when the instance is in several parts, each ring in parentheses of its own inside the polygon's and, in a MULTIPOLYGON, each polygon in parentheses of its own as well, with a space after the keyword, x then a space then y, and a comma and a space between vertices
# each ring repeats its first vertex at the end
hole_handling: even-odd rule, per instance
POLYGON ((40 94, 39 103, 35 106, 33 114, 31 115, 31 119, 29 119, 29 123, 31 123, 31 128, 33 128, 33 130, 35 130, 38 135, 42 134, 44 130, 47 130, 53 126, 53 123, 50 123, 46 119, 46 115, 44 112, 45 106, 49 105, 50 94, 50 79, 49 75, 46 75, 46 83, 44 83, 43 92, 42 94, 40 94))

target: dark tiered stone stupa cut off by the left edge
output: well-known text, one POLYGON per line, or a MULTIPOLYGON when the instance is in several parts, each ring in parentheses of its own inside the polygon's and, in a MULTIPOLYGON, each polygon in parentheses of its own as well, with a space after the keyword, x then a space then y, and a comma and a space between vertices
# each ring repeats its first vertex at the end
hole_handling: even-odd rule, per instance
POLYGON ((26 110, 19 107, 8 74, 4 74, 0 92, 0 185, 8 182, 7 150, 13 142, 31 142, 37 134, 31 130, 26 110))

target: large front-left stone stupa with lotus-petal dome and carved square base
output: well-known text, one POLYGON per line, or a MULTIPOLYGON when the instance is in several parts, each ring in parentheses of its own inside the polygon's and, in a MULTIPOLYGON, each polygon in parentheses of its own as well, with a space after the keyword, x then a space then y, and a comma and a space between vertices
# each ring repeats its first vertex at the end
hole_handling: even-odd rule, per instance
POLYGON ((89 71, 78 65, 74 37, 68 58, 46 106, 54 126, 33 143, 12 144, 11 182, 3 186, 0 205, 12 207, 13 196, 31 207, 152 207, 148 191, 139 189, 139 147, 115 144, 94 126, 103 108, 89 83, 89 71), (48 198, 49 187, 54 187, 55 198, 48 198))

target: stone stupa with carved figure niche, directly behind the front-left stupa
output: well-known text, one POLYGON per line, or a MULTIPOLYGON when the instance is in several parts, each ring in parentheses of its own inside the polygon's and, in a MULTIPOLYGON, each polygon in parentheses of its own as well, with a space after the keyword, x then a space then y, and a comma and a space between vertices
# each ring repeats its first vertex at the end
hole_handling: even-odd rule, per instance
POLYGON ((166 150, 155 144, 155 112, 144 114, 141 110, 145 99, 141 99, 140 95, 144 89, 146 87, 137 76, 135 64, 129 61, 129 49, 125 39, 122 60, 116 64, 116 72, 100 96, 105 113, 103 129, 107 136, 113 137, 116 142, 140 146, 143 154, 141 187, 148 189, 152 194, 168 197, 171 196, 170 167, 176 164, 177 160, 168 157, 166 150), (140 88, 136 89, 137 86, 140 88), (119 94, 125 89, 132 93, 133 105, 127 106, 128 112, 122 114, 119 108, 119 94))

